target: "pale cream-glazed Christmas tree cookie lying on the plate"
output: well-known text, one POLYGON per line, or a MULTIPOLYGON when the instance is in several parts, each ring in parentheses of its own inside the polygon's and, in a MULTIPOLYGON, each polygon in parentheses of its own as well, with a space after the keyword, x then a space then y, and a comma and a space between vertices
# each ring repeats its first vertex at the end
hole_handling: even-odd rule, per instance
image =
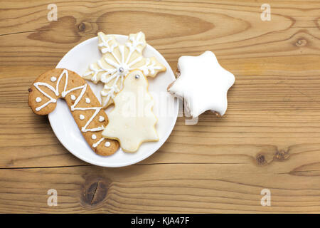
POLYGON ((146 77, 141 71, 132 71, 124 79, 123 90, 114 97, 114 109, 102 135, 119 140, 126 152, 137 151, 142 142, 158 141, 153 105, 146 77))

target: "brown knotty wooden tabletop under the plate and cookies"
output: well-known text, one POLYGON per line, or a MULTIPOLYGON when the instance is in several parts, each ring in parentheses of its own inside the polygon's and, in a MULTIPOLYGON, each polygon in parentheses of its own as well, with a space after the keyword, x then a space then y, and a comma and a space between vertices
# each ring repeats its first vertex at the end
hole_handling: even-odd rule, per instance
POLYGON ((0 212, 320 212, 320 1, 1 1, 0 212), (48 21, 48 4, 58 21, 48 21), (262 4, 270 4, 271 20, 262 4), (262 15, 261 15, 262 14, 262 15), (223 118, 183 117, 137 165, 82 162, 28 108, 70 48, 144 31, 176 71, 213 51, 235 74, 223 118), (58 206, 47 204, 48 190, 58 206), (262 207, 263 190, 271 206, 262 207))

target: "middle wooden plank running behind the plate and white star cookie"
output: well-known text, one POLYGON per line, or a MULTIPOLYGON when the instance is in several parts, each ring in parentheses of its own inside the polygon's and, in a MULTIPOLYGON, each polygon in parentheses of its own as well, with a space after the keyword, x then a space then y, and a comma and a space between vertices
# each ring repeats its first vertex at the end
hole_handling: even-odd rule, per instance
MULTIPOLYGON (((25 67, 3 68, 11 78, 6 78, 7 72, 1 73, 0 87, 4 92, 0 93, 0 145, 4 152, 0 166, 83 164, 69 156, 60 145, 48 119, 33 115, 28 108, 28 86, 38 72, 26 71, 25 67), (39 147, 41 150, 38 150, 39 147), (21 152, 14 153, 17 150, 21 152)), ((45 68, 41 68, 41 71, 45 71, 45 68)), ((265 147, 274 152, 319 144, 320 105, 317 100, 320 98, 320 80, 319 76, 307 76, 308 80, 305 77, 295 73, 290 76, 238 76, 237 83, 229 93, 229 108, 225 117, 215 118, 215 115, 207 112, 201 115, 198 125, 191 126, 185 125, 183 118, 178 118, 171 137, 159 151, 180 153, 183 148, 183 151, 194 155, 203 152, 215 155, 216 147, 222 145, 224 150, 230 147, 229 150, 233 151, 235 145, 238 153, 254 156, 260 152, 260 148, 265 147), (242 146, 243 151, 240 150, 242 146), (252 149, 248 151, 250 146, 252 149)), ((220 153, 220 149, 216 152, 220 153)), ((164 157, 166 162, 170 162, 168 159, 169 155, 164 157)))

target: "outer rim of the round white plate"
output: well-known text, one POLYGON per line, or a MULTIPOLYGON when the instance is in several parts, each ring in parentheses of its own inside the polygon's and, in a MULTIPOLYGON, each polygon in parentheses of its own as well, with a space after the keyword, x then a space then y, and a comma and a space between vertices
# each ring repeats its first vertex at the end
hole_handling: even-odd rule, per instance
MULTIPOLYGON (((119 38, 119 37, 122 37, 122 38, 128 38, 129 36, 126 36, 126 35, 121 35, 121 34, 110 34, 112 36, 115 36, 116 39, 119 38)), ((81 46, 85 45, 86 43, 90 43, 92 41, 95 41, 95 39, 97 39, 97 36, 94 36, 92 38, 88 38, 87 40, 85 41, 82 41, 81 43, 78 43, 76 46, 74 46, 73 48, 71 48, 67 53, 65 53, 65 55, 60 58, 60 61, 58 62, 58 64, 55 66, 55 68, 58 68, 60 62, 63 60, 63 58, 65 56, 68 55, 68 53, 70 53, 71 51, 73 51, 75 48, 80 48, 81 46)), ((174 76, 174 72, 172 71, 169 63, 166 61, 166 59, 164 58, 164 56, 161 55, 161 53, 159 51, 156 50, 156 48, 154 48, 153 46, 149 45, 149 43, 146 43, 146 47, 150 48, 151 51, 155 51, 156 53, 159 53, 159 56, 160 56, 160 61, 161 62, 164 62, 164 63, 167 63, 169 68, 166 69, 166 71, 171 71, 169 72, 171 76, 173 76, 172 80, 176 80, 175 76, 174 76)), ((53 128, 53 121, 52 118, 50 118, 50 114, 48 114, 48 120, 49 120, 49 123, 50 123, 50 126, 53 130, 53 133, 55 133, 55 137, 58 138, 59 142, 63 145, 63 147, 65 147, 65 149, 68 150, 68 152, 70 152, 71 154, 73 154, 75 157, 78 157, 78 159, 82 160, 82 161, 85 161, 89 164, 92 164, 92 165, 97 165, 97 166, 100 166, 100 167, 125 167, 125 166, 129 166, 129 165, 134 165, 138 162, 141 162, 143 160, 145 160, 147 157, 150 157, 151 155, 153 155, 156 151, 159 150, 159 148, 164 145, 164 142, 166 142, 166 140, 169 138, 169 136, 171 135, 172 133, 172 130, 174 130, 174 126, 176 125, 176 120, 178 118, 178 102, 177 102, 177 99, 174 98, 174 108, 175 108, 175 112, 174 112, 174 117, 173 119, 170 121, 170 127, 168 128, 168 130, 166 130, 166 133, 164 134, 164 137, 162 138, 159 138, 159 141, 160 143, 158 145, 156 145, 156 147, 154 147, 154 151, 151 152, 151 153, 145 153, 145 154, 142 154, 142 156, 140 157, 137 157, 135 160, 130 160, 130 161, 127 161, 127 162, 122 162, 120 163, 115 163, 114 165, 108 163, 107 165, 104 163, 104 162, 95 162, 95 161, 92 161, 90 159, 87 159, 87 157, 85 156, 82 156, 81 154, 77 153, 77 152, 73 152, 73 150, 70 149, 70 147, 68 146, 68 144, 65 144, 62 140, 60 140, 60 137, 58 136, 59 134, 57 133, 58 129, 55 129, 53 128)), ((158 142, 159 142, 158 141, 158 142)), ((86 142, 87 143, 87 142, 86 142)), ((138 149, 139 150, 139 149, 138 149)), ((92 150, 92 152, 94 152, 92 150)))

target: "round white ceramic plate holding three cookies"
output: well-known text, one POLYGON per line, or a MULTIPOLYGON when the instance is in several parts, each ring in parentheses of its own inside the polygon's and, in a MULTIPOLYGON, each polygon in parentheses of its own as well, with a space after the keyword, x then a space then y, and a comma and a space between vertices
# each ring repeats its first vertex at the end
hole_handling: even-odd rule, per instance
MULTIPOLYGON (((115 36, 120 43, 127 41, 127 36, 115 36)), ((94 37, 78 44, 63 56, 56 68, 67 68, 71 71, 75 71, 79 75, 82 75, 85 73, 87 66, 89 66, 90 63, 94 63, 101 58, 101 53, 97 48, 97 43, 98 39, 97 37, 94 37)), ((159 73, 156 78, 148 77, 149 92, 154 98, 153 110, 158 118, 156 130, 159 135, 159 141, 144 142, 139 147, 139 150, 134 153, 123 152, 120 148, 114 153, 114 155, 108 157, 97 155, 92 151, 85 141, 85 138, 83 138, 80 133, 80 130, 70 113, 68 105, 64 100, 58 100, 57 107, 48 115, 50 125, 58 140, 60 140, 65 148, 73 153, 73 155, 93 165, 122 167, 144 160, 164 144, 174 128, 176 118, 178 116, 178 102, 174 97, 166 92, 167 86, 169 83, 174 81, 175 77, 169 63, 166 62, 164 57, 161 56, 156 49, 147 45, 146 48, 144 48, 144 56, 155 56, 158 61, 166 66, 166 72, 159 73)), ((101 102, 100 90, 102 89, 102 83, 88 83, 101 102)), ((112 110, 112 108, 108 108, 106 112, 108 113, 110 110, 112 110)))

